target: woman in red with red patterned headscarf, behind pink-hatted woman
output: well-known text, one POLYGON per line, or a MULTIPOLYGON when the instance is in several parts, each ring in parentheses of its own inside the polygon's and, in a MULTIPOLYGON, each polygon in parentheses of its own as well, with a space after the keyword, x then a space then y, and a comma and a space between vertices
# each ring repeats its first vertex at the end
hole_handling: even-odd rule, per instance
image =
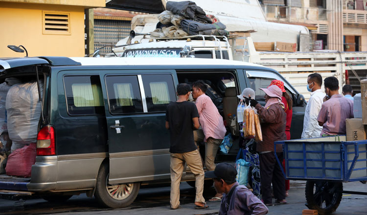
MULTIPOLYGON (((285 126, 285 135, 287 136, 287 140, 291 139, 291 123, 292 123, 292 106, 293 100, 291 96, 285 91, 284 83, 279 80, 273 80, 269 86, 278 86, 282 90, 282 103, 284 104, 284 111, 287 114, 287 123, 285 126)), ((268 86, 268 87, 269 87, 268 86)), ((283 160, 283 168, 285 169, 285 163, 283 160)), ((289 180, 285 180, 285 196, 288 196, 289 190, 289 180)))

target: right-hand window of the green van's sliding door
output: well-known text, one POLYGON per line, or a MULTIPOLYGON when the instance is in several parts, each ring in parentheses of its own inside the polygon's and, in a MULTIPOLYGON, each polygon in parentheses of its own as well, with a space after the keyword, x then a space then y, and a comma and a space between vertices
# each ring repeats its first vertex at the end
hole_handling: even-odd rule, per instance
POLYGON ((171 75, 142 75, 148 112, 166 111, 170 102, 176 101, 176 91, 171 75))

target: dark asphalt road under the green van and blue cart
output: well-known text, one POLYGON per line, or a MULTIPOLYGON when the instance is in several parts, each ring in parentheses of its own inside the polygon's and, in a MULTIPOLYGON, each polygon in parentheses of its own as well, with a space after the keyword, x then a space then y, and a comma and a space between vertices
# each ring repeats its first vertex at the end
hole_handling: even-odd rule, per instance
MULTIPOLYGON (((269 207, 270 215, 301 215, 304 205, 304 182, 291 181, 288 204, 269 207)), ((367 184, 344 183, 344 190, 367 192, 367 184)), ((5 200, 0 199, 0 215, 216 215, 219 202, 208 202, 209 208, 194 209, 195 190, 186 183, 181 184, 181 207, 169 210, 169 187, 142 188, 136 201, 123 209, 100 208, 94 198, 85 194, 71 197, 65 203, 49 203, 43 199, 5 200)), ((214 191, 204 194, 208 199, 214 191)), ((367 196, 344 194, 342 203, 333 215, 366 215, 367 196)))

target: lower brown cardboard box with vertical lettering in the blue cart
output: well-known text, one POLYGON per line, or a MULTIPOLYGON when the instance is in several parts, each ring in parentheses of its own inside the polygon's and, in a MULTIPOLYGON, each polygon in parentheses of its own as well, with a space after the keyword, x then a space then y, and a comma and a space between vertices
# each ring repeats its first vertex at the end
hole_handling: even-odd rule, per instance
POLYGON ((367 126, 361 118, 346 119, 346 141, 366 140, 367 126))

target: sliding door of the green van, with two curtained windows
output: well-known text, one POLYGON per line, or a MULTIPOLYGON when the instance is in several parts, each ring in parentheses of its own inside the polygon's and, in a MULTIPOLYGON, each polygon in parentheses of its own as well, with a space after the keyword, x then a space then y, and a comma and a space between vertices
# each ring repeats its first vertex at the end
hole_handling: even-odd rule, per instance
POLYGON ((134 73, 105 76, 110 184, 170 177, 165 110, 176 101, 173 76, 134 73))

